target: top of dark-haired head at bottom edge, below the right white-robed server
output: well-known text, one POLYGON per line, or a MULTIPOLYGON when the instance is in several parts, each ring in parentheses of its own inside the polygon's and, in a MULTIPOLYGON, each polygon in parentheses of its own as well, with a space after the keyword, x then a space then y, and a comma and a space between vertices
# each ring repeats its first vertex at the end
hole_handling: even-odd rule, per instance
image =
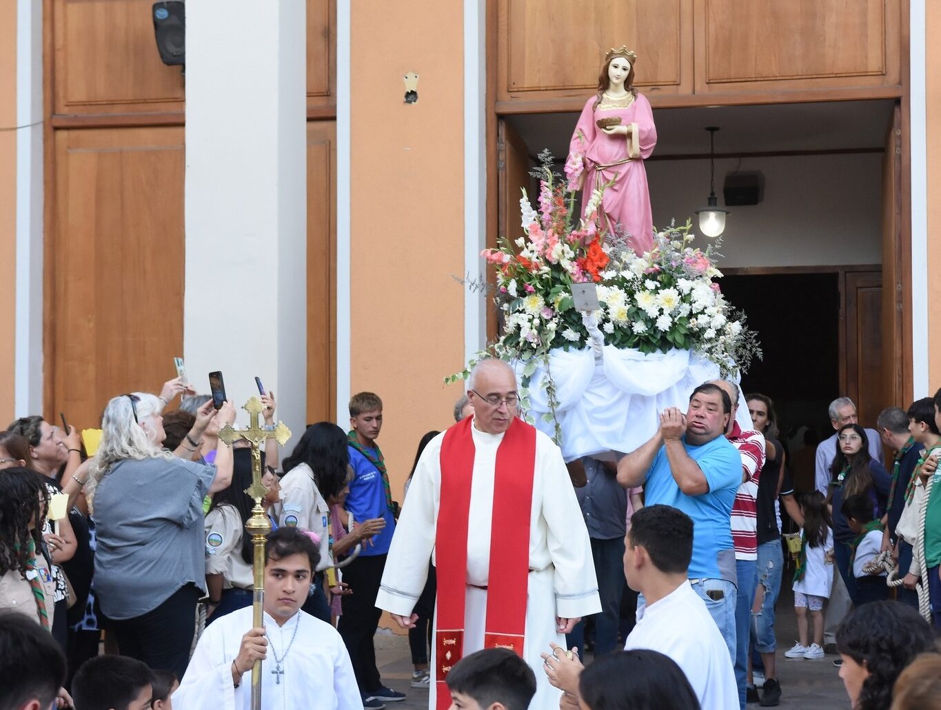
POLYGON ((579 694, 591 710, 698 710, 699 700, 677 662, 635 649, 599 656, 582 671, 579 694))

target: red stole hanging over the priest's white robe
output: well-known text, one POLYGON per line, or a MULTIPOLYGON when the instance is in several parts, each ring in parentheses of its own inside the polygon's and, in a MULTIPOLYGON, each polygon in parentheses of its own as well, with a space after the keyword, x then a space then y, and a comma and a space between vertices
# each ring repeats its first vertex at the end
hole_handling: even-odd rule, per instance
MULTIPOLYGON (((435 538, 438 563, 435 682, 439 710, 451 705, 445 678, 464 655, 470 480, 475 453, 471 419, 465 418, 451 427, 441 442, 441 497, 435 538)), ((535 429, 514 418, 497 449, 484 647, 511 648, 520 656, 526 630, 534 469, 535 429)))

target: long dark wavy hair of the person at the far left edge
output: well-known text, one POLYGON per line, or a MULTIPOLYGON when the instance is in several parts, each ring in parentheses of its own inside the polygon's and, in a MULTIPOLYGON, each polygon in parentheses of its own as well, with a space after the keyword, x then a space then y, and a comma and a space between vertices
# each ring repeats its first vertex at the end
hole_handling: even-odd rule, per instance
POLYGON ((40 474, 22 466, 0 471, 0 576, 15 570, 26 578, 29 540, 39 555, 42 520, 48 509, 49 490, 40 474))

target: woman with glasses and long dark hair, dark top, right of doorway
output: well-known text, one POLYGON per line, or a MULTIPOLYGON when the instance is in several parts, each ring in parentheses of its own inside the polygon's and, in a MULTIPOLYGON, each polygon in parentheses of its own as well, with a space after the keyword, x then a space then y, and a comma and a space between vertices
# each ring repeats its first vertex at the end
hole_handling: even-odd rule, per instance
POLYGON ((840 510, 848 497, 865 495, 872 503, 873 519, 887 519, 886 502, 892 477, 885 466, 869 454, 869 436, 859 424, 844 424, 837 431, 837 455, 830 465, 828 500, 833 516, 834 555, 837 569, 843 578, 850 598, 856 598, 856 578, 850 558, 856 533, 850 529, 846 516, 840 510))

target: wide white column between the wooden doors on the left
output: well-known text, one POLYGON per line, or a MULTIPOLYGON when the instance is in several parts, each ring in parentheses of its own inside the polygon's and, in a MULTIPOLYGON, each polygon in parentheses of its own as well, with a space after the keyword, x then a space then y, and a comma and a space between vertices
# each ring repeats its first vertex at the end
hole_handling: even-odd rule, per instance
POLYGON ((221 370, 237 406, 259 376, 295 442, 307 423, 306 27, 305 0, 186 3, 186 370, 201 392, 221 370))

